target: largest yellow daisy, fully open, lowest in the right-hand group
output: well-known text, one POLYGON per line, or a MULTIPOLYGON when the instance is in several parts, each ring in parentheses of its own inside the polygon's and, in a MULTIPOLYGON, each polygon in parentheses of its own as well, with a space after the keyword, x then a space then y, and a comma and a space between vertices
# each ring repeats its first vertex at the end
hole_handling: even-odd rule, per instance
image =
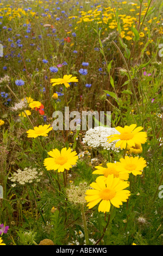
POLYGON ((89 202, 87 206, 89 209, 93 208, 96 204, 101 202, 98 206, 98 211, 109 212, 110 203, 116 208, 120 208, 122 202, 127 202, 130 196, 129 190, 124 190, 128 187, 127 181, 122 181, 120 178, 114 178, 114 175, 108 175, 108 178, 104 181, 103 176, 99 176, 96 182, 92 182, 90 187, 93 190, 86 191, 85 200, 89 202))

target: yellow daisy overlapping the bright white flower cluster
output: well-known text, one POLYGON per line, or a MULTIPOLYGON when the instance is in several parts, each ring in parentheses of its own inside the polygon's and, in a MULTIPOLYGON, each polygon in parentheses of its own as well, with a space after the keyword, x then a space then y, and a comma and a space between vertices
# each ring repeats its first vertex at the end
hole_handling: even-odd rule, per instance
POLYGON ((135 144, 144 144, 147 141, 147 133, 140 132, 143 127, 136 127, 136 124, 131 124, 130 126, 124 126, 124 128, 117 126, 116 130, 119 134, 110 135, 108 137, 108 142, 119 140, 115 144, 115 148, 120 147, 121 149, 126 149, 126 146, 135 147, 135 144))

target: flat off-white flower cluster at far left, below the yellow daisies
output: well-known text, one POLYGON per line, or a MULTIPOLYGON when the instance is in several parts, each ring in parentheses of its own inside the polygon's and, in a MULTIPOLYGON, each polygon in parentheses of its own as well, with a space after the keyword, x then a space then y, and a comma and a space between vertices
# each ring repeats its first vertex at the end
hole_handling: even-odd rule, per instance
MULTIPOLYGON (((36 168, 24 168, 24 170, 18 169, 11 177, 10 179, 12 182, 17 182, 20 185, 24 184, 30 184, 33 181, 40 181, 40 176, 43 174, 43 172, 37 172, 36 168)), ((12 187, 16 186, 16 183, 11 185, 12 187)))

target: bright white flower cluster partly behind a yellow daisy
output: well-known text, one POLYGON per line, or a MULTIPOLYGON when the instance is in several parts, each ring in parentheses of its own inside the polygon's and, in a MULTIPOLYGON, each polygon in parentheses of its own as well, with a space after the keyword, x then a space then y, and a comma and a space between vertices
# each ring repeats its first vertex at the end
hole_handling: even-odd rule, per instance
POLYGON ((120 132, 118 132, 115 128, 98 126, 86 131, 83 142, 87 143, 87 145, 92 148, 102 147, 103 149, 111 149, 113 151, 119 152, 118 148, 115 148, 117 141, 113 141, 111 143, 107 142, 107 137, 114 134, 120 134, 120 132))

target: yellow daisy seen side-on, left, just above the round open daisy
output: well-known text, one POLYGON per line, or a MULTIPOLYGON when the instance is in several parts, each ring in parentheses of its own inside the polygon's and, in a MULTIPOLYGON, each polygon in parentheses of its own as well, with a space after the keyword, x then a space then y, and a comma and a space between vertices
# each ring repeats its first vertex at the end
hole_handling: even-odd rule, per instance
POLYGON ((48 136, 48 132, 49 131, 52 131, 52 129, 53 129, 53 127, 50 127, 49 128, 49 126, 50 126, 50 124, 45 124, 45 125, 39 125, 39 127, 37 127, 37 126, 35 126, 34 127, 34 130, 32 130, 32 129, 29 129, 28 131, 27 131, 27 133, 28 133, 28 138, 36 138, 36 137, 38 137, 38 136, 43 136, 43 137, 46 137, 46 136, 48 136))

